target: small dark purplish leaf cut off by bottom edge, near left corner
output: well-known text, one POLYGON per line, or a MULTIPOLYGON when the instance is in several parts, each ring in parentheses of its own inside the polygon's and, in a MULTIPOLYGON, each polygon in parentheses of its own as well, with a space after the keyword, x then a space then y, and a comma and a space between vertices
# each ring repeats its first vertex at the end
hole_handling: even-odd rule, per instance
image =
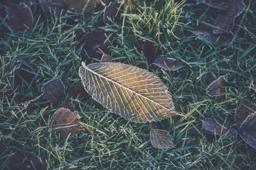
POLYGON ((39 156, 30 154, 23 159, 23 170, 47 170, 47 167, 39 156))

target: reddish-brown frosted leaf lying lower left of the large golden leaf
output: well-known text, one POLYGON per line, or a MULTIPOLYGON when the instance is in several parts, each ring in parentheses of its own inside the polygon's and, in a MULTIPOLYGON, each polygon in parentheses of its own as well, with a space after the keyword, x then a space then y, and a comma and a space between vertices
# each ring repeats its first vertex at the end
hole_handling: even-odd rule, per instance
POLYGON ((60 134, 61 138, 67 138, 68 135, 75 136, 83 125, 78 122, 79 115, 77 111, 71 112, 66 108, 59 108, 51 117, 50 125, 60 134))

